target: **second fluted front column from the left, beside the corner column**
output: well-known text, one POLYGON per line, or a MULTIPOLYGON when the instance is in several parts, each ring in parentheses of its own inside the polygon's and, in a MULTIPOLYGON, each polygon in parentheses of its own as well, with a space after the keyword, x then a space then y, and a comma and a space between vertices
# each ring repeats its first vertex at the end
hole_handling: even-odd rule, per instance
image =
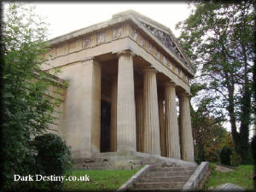
POLYGON ((143 78, 144 135, 143 151, 160 154, 160 128, 156 85, 156 70, 147 68, 143 78))

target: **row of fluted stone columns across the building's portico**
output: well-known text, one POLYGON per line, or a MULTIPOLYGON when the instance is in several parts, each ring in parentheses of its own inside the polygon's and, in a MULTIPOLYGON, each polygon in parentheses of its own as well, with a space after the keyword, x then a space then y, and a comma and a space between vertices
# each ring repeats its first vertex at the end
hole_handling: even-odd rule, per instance
POLYGON ((189 95, 179 97, 177 122, 176 84, 170 79, 157 94, 157 70, 143 71, 143 87, 134 88, 133 53, 118 53, 118 77, 111 90, 111 151, 139 151, 194 161, 189 95), (179 131, 180 129, 180 131, 179 131))

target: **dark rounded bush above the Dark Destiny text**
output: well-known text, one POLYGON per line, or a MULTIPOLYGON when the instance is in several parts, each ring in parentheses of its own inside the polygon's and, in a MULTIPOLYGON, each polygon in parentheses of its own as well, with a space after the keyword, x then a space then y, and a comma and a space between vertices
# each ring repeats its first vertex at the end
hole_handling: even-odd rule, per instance
MULTIPOLYGON (((64 173, 71 169, 72 160, 70 150, 61 137, 47 133, 42 136, 35 137, 38 143, 37 171, 45 176, 55 175, 63 176, 64 173)), ((50 189, 60 189, 61 182, 49 182, 50 189)))

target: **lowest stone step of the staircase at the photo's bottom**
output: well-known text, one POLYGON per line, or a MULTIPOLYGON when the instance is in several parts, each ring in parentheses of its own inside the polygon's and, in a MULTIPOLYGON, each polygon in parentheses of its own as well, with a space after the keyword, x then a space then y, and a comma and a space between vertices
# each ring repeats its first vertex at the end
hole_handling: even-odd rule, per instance
POLYGON ((133 188, 135 188, 135 189, 172 189, 172 188, 181 189, 184 184, 185 184, 185 182, 135 183, 133 188))

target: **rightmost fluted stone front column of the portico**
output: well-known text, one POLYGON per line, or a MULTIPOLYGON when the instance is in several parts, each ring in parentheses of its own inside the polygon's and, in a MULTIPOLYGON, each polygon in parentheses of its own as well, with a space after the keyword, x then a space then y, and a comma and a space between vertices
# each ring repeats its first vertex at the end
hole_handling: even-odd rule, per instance
POLYGON ((180 95, 180 132, 182 159, 194 162, 194 141, 191 129, 189 94, 186 93, 180 95))

